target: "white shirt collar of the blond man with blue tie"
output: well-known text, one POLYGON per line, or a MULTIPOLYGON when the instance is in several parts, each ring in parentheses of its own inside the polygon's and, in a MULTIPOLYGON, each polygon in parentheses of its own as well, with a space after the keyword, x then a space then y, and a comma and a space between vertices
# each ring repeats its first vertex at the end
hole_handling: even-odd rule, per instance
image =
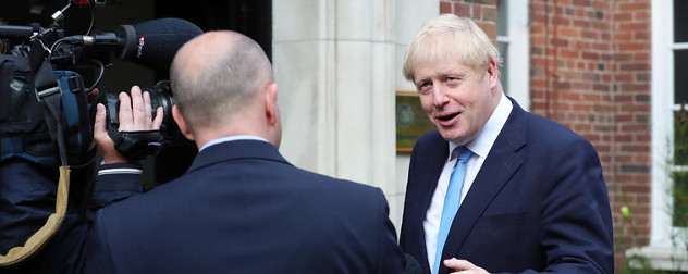
MULTIPOLYGON (((492 145, 494 145, 496 137, 500 135, 502 127, 506 124, 506 120, 513 109, 514 104, 506 95, 502 92, 502 98, 500 98, 500 103, 496 105, 496 109, 494 109, 494 112, 490 119, 488 119, 488 122, 484 124, 482 129, 480 129, 478 136, 466 144, 466 147, 478 157, 482 159, 487 158, 492 145)), ((452 151, 454 151, 456 147, 458 147, 458 145, 450 141, 450 160, 452 160, 452 151)))

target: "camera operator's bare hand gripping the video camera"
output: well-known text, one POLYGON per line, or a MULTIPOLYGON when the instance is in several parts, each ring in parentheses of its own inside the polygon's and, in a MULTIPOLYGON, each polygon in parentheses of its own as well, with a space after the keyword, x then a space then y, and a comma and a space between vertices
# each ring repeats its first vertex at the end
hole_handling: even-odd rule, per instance
MULTIPOLYGON (((162 107, 156 110, 155 119, 151 117, 150 95, 140 91, 138 86, 133 86, 130 96, 126 92, 120 92, 120 132, 137 132, 137 130, 156 130, 160 129, 162 124, 162 107)), ((97 105, 96 121, 94 124, 94 139, 102 153, 103 162, 111 163, 130 163, 132 160, 126 159, 114 148, 114 142, 108 135, 106 107, 101 103, 97 105)))

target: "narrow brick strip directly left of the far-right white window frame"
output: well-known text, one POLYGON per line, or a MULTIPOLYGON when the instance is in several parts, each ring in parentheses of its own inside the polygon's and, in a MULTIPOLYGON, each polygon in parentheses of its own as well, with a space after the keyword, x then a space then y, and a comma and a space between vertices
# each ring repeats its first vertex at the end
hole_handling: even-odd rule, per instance
MULTIPOLYGON (((619 250, 649 244, 651 223, 651 12, 650 0, 613 2, 612 39, 615 66, 613 105, 615 139, 612 166, 616 175, 610 184, 613 210, 630 208, 619 250)), ((667 14, 668 16, 668 14, 667 14)), ((655 136, 654 138, 665 138, 655 136)), ((615 217, 619 235, 621 216, 615 217)), ((617 265, 623 259, 617 256, 617 265)))

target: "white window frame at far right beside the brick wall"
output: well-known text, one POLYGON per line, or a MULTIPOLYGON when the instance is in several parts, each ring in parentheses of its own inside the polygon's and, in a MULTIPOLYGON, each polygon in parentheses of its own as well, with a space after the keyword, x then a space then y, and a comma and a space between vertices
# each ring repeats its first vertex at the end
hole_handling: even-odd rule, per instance
MULTIPOLYGON (((674 50, 688 43, 674 43, 674 7, 672 0, 652 0, 652 210, 650 246, 632 248, 626 257, 642 256, 650 259, 656 270, 688 271, 688 252, 677 246, 673 236, 685 237, 686 227, 674 227, 672 222, 673 197, 669 172, 680 166, 668 165, 673 157, 674 111, 674 50)), ((631 213, 632 214, 632 213, 631 213)), ((679 239, 685 240, 685 239, 679 239)))

